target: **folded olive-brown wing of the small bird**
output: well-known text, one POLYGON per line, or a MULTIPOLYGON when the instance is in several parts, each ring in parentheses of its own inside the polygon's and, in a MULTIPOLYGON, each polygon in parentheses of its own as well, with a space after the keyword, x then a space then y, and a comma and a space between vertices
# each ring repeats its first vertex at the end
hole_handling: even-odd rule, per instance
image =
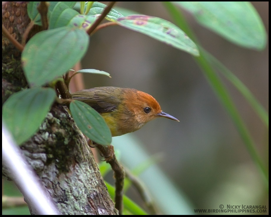
POLYGON ((99 113, 112 112, 120 103, 119 89, 113 87, 91 88, 72 93, 72 98, 82 101, 99 113))

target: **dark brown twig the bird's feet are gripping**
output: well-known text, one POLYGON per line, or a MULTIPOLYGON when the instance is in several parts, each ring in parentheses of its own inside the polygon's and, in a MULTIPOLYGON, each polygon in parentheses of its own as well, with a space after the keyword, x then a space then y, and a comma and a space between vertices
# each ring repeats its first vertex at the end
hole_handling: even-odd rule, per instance
POLYGON ((124 177, 125 177, 125 173, 124 173, 124 169, 123 167, 120 165, 120 163, 118 162, 115 153, 112 151, 114 151, 113 145, 111 146, 104 146, 104 145, 100 145, 97 144, 96 146, 100 152, 102 152, 103 156, 106 159, 106 162, 109 163, 112 167, 112 170, 114 171, 114 176, 115 176, 115 208, 118 209, 119 214, 122 214, 122 197, 123 197, 123 185, 124 185, 124 177), (108 157, 110 156, 111 157, 108 157))

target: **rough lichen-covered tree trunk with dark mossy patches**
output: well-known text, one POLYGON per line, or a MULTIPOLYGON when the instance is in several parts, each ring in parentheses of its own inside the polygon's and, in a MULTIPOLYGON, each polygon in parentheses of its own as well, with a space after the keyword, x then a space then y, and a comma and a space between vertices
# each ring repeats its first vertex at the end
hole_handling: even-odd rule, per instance
MULTIPOLYGON (((21 42, 30 22, 27 3, 2 4, 2 17, 2 24, 21 42)), ((2 33, 2 103, 27 88, 20 57, 2 33)), ((52 106, 39 131, 21 150, 62 214, 118 214, 84 135, 61 105, 52 106)))

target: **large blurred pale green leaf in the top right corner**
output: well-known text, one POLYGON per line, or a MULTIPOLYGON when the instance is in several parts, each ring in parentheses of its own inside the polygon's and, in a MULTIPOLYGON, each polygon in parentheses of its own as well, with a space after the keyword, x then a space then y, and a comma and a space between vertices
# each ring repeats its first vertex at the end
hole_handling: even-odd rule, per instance
POLYGON ((262 50, 266 31, 256 9, 247 1, 173 1, 190 11, 203 26, 237 45, 262 50))

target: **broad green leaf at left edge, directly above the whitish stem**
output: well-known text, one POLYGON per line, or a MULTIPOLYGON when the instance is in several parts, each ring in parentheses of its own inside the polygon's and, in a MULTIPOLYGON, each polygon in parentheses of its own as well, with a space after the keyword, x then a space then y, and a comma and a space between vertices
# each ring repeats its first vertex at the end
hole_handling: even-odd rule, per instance
POLYGON ((51 88, 31 88, 11 95, 3 105, 2 117, 17 144, 39 129, 55 98, 51 88))

